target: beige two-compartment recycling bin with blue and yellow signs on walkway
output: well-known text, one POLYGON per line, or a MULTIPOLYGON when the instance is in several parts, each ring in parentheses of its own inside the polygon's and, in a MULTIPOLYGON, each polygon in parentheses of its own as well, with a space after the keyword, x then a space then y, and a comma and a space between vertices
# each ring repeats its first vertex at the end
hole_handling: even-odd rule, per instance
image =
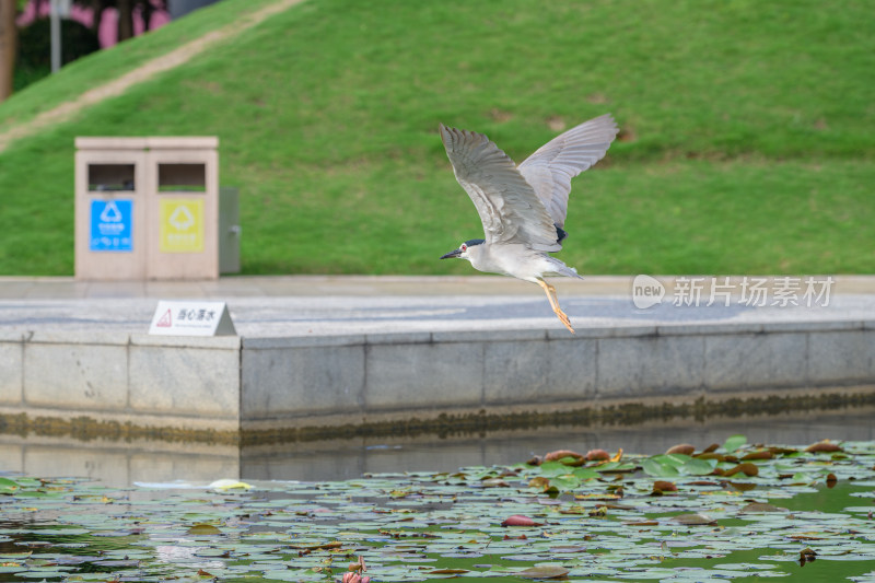
POLYGON ((238 271, 233 189, 222 193, 220 229, 218 145, 214 137, 77 138, 77 279, 238 271))

